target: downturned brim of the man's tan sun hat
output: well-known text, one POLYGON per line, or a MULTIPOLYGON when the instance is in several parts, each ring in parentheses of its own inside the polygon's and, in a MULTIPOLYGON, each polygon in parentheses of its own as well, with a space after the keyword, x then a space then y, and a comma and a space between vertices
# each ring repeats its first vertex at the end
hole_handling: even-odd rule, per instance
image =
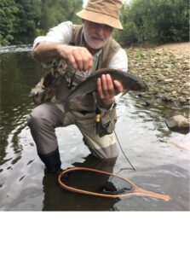
POLYGON ((108 26, 112 26, 114 28, 123 29, 121 22, 112 16, 103 15, 94 11, 92 12, 87 9, 82 9, 76 15, 84 20, 93 21, 95 23, 107 24, 108 26))

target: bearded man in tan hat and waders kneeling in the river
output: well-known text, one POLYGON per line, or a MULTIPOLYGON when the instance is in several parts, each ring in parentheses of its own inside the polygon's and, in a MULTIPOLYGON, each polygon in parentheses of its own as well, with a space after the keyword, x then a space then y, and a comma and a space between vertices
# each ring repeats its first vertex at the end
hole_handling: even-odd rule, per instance
POLYGON ((98 68, 127 71, 127 55, 111 38, 113 28, 122 29, 121 7, 119 0, 89 0, 86 8, 77 14, 83 19, 83 26, 66 21, 34 41, 33 56, 43 65, 49 66, 55 60, 66 61, 65 82, 56 91, 55 101, 43 102, 28 117, 37 154, 49 172, 56 172, 61 166, 55 136, 55 128, 60 126, 77 125, 84 143, 96 157, 113 159, 118 156, 112 132, 116 122, 115 96, 123 91, 122 84, 112 82, 109 74, 103 74, 97 79, 97 91, 76 97, 67 113, 56 100, 63 99, 98 68), (101 122, 95 121, 96 113, 101 114, 101 122))

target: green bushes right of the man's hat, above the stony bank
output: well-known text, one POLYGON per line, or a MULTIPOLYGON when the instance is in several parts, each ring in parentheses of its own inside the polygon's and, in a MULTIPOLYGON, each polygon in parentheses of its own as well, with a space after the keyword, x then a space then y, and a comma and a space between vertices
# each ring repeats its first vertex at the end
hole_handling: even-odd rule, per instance
POLYGON ((189 39, 189 0, 133 0, 122 10, 123 44, 185 42, 189 39))

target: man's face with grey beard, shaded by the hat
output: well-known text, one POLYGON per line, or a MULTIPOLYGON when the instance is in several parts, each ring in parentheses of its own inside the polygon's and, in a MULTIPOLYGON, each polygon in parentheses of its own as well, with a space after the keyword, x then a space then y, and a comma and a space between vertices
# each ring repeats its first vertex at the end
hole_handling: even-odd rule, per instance
POLYGON ((100 49, 112 34, 112 26, 83 20, 83 36, 92 49, 100 49))

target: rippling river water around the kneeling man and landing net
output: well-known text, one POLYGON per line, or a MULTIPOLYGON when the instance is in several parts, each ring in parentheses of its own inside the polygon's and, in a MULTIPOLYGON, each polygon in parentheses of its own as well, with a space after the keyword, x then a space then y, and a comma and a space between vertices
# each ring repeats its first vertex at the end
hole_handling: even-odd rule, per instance
POLYGON ((164 119, 184 109, 163 102, 148 107, 144 97, 128 94, 118 103, 116 133, 135 171, 120 153, 103 165, 89 154, 74 125, 56 130, 62 168, 96 167, 118 173, 139 187, 170 195, 170 201, 131 196, 107 199, 61 189, 56 175, 44 173, 26 125, 34 108, 28 97, 44 69, 32 60, 30 47, 0 49, 1 57, 1 211, 188 211, 189 134, 169 131, 164 119), (106 168, 106 169, 105 169, 106 168), (110 168, 110 170, 109 170, 110 168))

